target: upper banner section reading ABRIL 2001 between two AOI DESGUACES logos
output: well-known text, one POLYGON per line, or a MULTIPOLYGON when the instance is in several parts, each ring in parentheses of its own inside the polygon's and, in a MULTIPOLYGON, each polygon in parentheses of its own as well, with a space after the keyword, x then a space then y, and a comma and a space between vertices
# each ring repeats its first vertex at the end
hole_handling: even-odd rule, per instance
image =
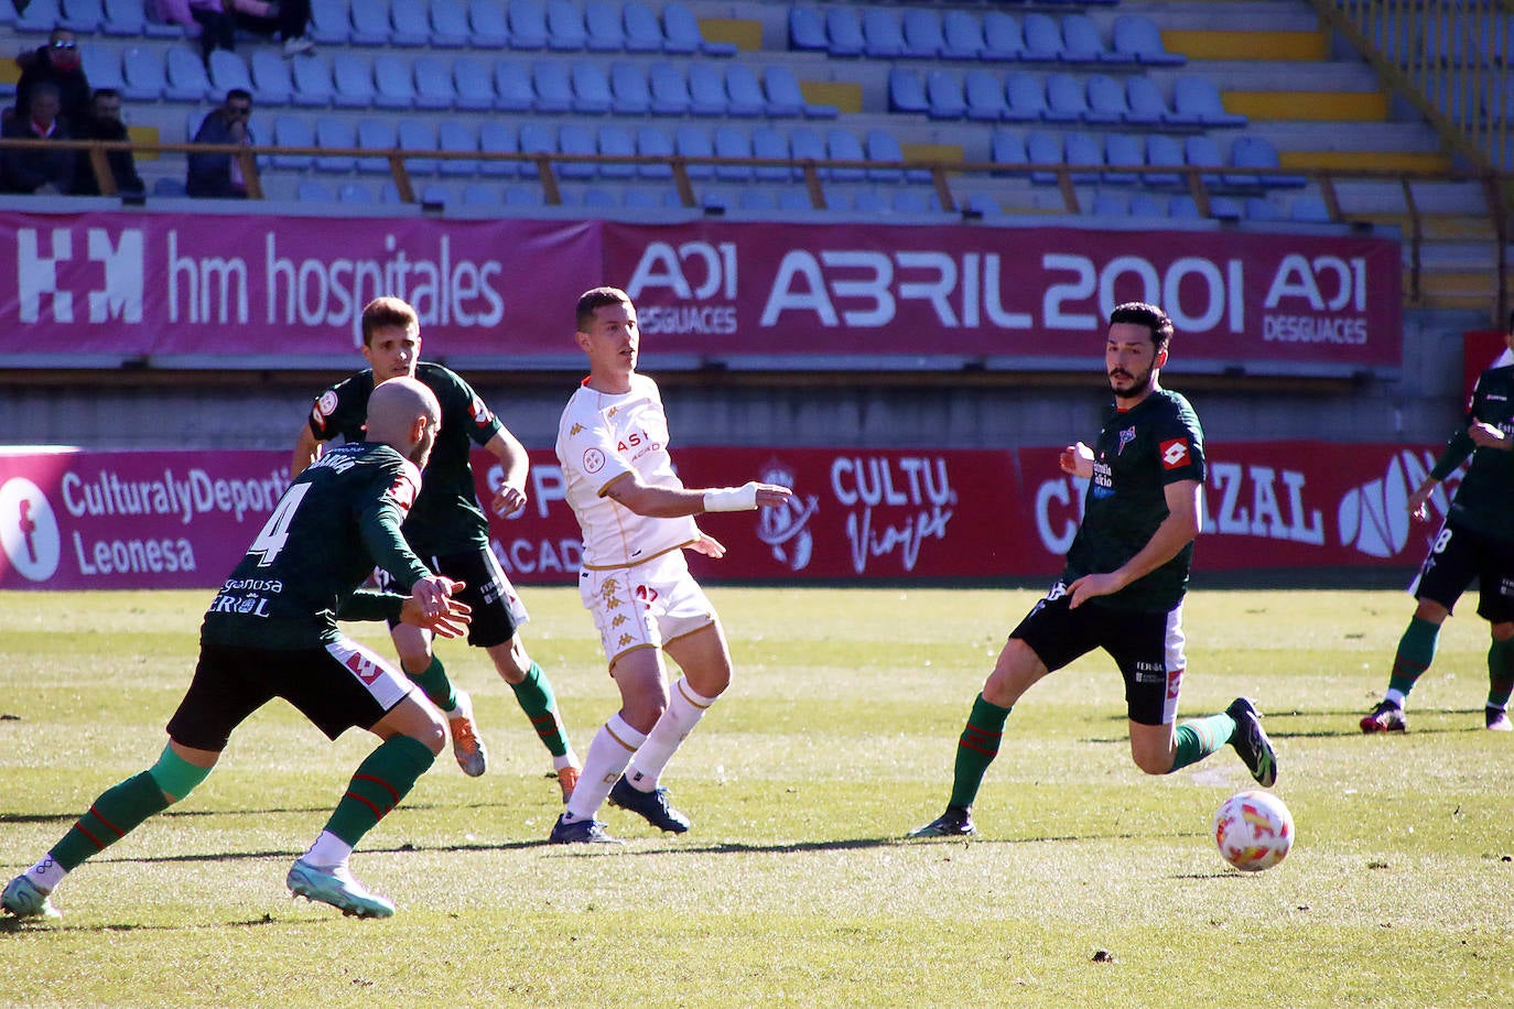
POLYGON ((1086 362, 1122 301, 1163 306, 1184 366, 1397 368, 1397 242, 1246 231, 604 225, 659 351, 1086 362))

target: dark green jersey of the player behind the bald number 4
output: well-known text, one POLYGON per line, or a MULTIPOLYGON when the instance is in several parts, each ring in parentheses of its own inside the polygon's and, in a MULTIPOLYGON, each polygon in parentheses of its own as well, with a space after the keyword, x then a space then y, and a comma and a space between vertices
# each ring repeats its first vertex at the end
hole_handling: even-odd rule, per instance
MULTIPOLYGON (((504 425, 456 372, 421 362, 415 377, 442 404, 442 428, 431 448, 431 461, 425 466, 421 495, 404 520, 404 539, 422 557, 488 548, 489 520, 478 507, 468 457, 474 443, 488 445, 504 425)), ((374 374, 369 369, 322 392, 310 410, 310 433, 321 442, 336 436, 360 442, 372 390, 374 374)))

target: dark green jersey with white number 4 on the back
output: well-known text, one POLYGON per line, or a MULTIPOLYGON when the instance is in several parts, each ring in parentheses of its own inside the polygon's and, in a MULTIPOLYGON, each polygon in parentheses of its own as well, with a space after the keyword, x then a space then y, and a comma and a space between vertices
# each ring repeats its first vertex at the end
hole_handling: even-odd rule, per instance
POLYGON ((404 596, 359 591, 374 566, 409 588, 430 572, 400 523, 421 472, 388 445, 353 442, 300 473, 204 614, 201 638, 265 649, 316 647, 336 620, 397 617, 404 596))

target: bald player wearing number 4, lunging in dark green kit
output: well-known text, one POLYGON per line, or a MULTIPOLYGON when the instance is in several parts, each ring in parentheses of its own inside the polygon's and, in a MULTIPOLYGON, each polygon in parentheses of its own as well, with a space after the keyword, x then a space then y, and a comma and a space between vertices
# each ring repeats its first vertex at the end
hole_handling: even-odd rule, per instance
POLYGON ((398 619, 445 637, 466 629, 468 607, 453 598, 462 585, 428 572, 400 534, 439 421, 425 386, 388 381, 368 402, 369 440, 344 445, 295 478, 204 616, 200 661, 157 762, 101 793, 41 861, 12 879, 0 894, 6 911, 59 917, 48 896, 64 876, 188 796, 232 731, 283 697, 332 740, 353 726, 380 740, 289 870, 289 889, 350 915, 394 914, 389 900, 353 877, 348 858, 409 794, 447 735, 410 682, 345 637, 336 620, 398 619), (409 595, 360 590, 374 564, 394 572, 409 595))

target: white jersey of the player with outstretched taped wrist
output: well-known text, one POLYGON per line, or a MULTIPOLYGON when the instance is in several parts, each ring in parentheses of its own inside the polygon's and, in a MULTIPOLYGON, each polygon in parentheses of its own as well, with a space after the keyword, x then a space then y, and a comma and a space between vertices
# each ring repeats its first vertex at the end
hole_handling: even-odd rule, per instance
POLYGON ((662 393, 646 375, 631 375, 631 390, 621 395, 580 386, 557 427, 557 461, 583 532, 584 567, 630 567, 698 537, 693 516, 654 519, 604 496, 610 481, 633 470, 643 484, 683 487, 668 454, 662 393))

